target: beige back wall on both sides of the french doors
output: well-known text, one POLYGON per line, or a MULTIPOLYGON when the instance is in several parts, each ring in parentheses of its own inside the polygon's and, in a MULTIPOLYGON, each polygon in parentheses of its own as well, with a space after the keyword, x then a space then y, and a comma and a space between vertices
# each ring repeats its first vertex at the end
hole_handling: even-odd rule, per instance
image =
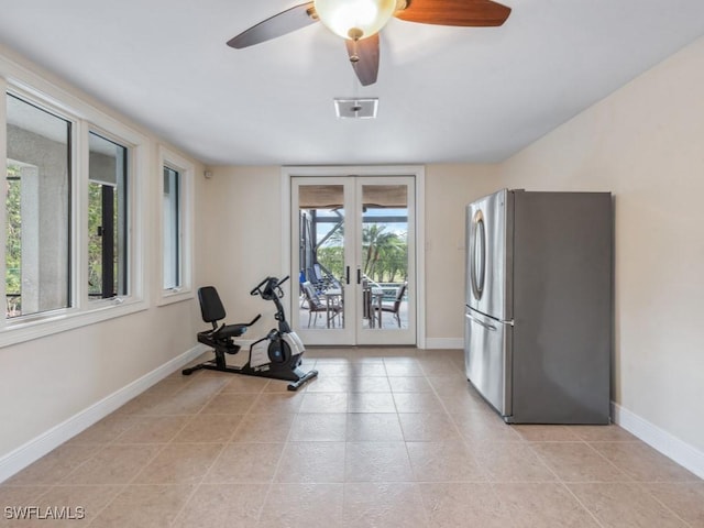
MULTIPOLYGON (((285 274, 280 167, 210 167, 198 217, 201 276, 218 287, 230 319, 246 320, 270 306, 249 296, 268 274, 285 274)), ((496 189, 492 165, 426 167, 426 337, 435 346, 461 346, 464 306, 464 206, 496 189)), ((264 318, 252 334, 265 331, 264 318)))

